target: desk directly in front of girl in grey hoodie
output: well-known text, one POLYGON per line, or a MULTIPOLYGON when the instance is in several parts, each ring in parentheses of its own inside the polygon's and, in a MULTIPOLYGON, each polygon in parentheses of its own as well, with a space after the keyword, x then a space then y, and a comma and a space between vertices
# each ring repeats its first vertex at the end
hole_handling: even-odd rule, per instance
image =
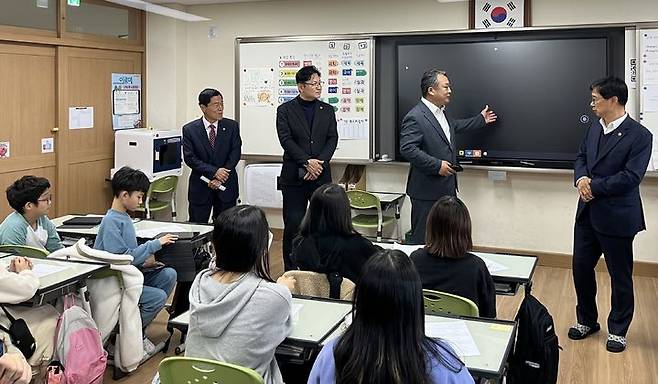
MULTIPOLYGON (((321 342, 332 334, 343 323, 345 316, 351 312, 352 303, 348 301, 304 296, 293 297, 292 333, 277 349, 277 353, 286 356, 291 354, 308 356, 304 350, 318 350, 321 342)), ((169 326, 178 329, 183 334, 187 333, 189 323, 189 311, 169 320, 169 326)), ((176 347, 175 352, 181 353, 182 348, 176 347)))

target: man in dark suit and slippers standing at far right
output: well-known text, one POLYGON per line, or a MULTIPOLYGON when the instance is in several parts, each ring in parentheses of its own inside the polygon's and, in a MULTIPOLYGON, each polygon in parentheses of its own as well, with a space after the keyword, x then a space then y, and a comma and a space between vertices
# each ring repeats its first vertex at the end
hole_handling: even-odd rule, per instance
POLYGON ((652 135, 626 113, 623 80, 608 77, 590 89, 592 110, 600 120, 587 130, 574 165, 580 195, 573 245, 578 323, 569 329, 569 338, 584 339, 601 329, 594 267, 603 253, 612 284, 606 349, 622 352, 633 319, 633 239, 645 229, 640 182, 652 135))

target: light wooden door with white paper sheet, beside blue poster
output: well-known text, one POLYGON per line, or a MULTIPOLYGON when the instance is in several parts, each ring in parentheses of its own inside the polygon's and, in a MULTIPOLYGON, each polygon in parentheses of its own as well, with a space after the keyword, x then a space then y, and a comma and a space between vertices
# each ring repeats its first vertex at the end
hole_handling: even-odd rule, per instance
POLYGON ((60 214, 105 213, 112 200, 106 179, 114 166, 112 73, 142 73, 142 54, 70 47, 57 52, 60 214), (93 107, 93 128, 69 129, 70 107, 93 107))

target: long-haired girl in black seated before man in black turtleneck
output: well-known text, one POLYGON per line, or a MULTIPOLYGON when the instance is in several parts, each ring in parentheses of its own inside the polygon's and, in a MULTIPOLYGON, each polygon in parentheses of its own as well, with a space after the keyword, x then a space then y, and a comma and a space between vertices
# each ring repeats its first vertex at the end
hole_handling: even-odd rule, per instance
POLYGON ((347 194, 336 184, 325 184, 313 192, 299 231, 292 250, 299 269, 336 272, 353 283, 368 258, 381 250, 354 230, 347 194))

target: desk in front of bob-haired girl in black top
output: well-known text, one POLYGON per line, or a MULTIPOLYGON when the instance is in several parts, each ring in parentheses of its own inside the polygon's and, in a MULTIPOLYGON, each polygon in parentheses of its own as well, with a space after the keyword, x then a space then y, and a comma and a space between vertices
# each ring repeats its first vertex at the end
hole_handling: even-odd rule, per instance
MULTIPOLYGON (((396 243, 373 243, 384 249, 398 249, 411 255, 416 249, 424 245, 401 245, 396 243)), ((481 257, 487 263, 489 273, 496 284, 496 293, 499 295, 515 295, 519 285, 524 284, 528 289, 532 286, 532 276, 537 266, 536 256, 511 255, 503 253, 471 252, 481 257)))

